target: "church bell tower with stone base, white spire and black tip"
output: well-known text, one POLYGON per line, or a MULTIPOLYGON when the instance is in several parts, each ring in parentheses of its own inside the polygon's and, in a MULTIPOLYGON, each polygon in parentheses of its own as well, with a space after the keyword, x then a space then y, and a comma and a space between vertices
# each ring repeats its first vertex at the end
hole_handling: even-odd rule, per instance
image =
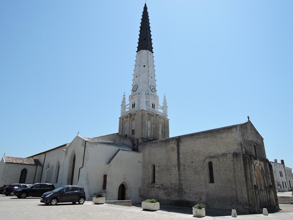
POLYGON ((163 105, 159 105, 155 76, 149 18, 145 4, 136 51, 131 94, 128 104, 126 104, 124 94, 119 118, 119 134, 131 139, 134 150, 138 149, 140 142, 169 137, 167 100, 164 95, 163 105))

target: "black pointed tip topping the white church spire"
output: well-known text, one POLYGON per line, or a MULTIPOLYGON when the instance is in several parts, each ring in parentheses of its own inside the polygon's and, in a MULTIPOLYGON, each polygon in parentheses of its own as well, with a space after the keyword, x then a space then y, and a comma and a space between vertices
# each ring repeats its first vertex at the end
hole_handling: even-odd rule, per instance
POLYGON ((137 51, 140 50, 148 50, 153 53, 153 47, 151 43, 151 34, 150 34, 150 26, 149 26, 149 19, 148 19, 148 12, 145 3, 144 12, 142 16, 142 22, 139 31, 139 39, 138 39, 138 46, 137 51))

